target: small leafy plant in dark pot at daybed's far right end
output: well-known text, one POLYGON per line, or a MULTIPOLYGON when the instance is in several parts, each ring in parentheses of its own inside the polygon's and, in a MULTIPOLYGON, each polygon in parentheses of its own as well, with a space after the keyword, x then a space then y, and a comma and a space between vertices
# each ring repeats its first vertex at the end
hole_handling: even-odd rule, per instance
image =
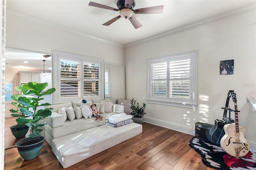
POLYGON ((146 104, 142 103, 142 107, 140 107, 140 104, 134 100, 134 98, 131 101, 132 106, 131 108, 131 115, 133 116, 132 120, 135 123, 142 124, 143 122, 143 115, 146 114, 144 110, 146 109, 146 104))

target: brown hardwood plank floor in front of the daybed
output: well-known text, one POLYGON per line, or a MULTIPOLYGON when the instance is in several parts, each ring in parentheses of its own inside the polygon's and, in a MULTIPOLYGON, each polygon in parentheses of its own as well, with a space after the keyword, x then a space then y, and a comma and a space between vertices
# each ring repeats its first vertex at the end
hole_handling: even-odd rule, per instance
MULTIPOLYGON (((5 170, 60 170, 62 165, 44 141, 39 155, 24 160, 11 136, 13 117, 5 120, 5 170), (13 147, 14 146, 14 147, 13 147)), ((201 156, 188 146, 192 135, 143 123, 143 133, 104 150, 65 170, 212 170, 206 167, 201 156)))

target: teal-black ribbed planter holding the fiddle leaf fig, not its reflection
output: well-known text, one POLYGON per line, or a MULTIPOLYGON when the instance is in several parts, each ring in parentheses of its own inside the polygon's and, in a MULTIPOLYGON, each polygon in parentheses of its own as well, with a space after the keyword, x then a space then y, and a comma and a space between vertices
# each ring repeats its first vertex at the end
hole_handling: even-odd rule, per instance
POLYGON ((16 147, 20 156, 22 156, 25 160, 31 160, 38 156, 40 150, 43 147, 44 137, 37 136, 34 138, 25 138, 21 139, 20 141, 16 142, 16 147), (32 144, 30 144, 32 143, 32 144), (28 145, 29 144, 29 145, 28 145))

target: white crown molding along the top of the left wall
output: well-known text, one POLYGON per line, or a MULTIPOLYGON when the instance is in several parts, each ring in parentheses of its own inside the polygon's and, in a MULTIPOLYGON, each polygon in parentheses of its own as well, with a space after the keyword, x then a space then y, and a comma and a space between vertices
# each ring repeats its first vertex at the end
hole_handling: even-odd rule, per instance
POLYGON ((45 21, 45 20, 38 20, 34 17, 19 14, 17 12, 13 12, 13 11, 10 11, 10 10, 6 10, 6 16, 11 16, 11 17, 14 17, 14 18, 18 18, 20 20, 25 20, 25 21, 29 21, 29 22, 32 22, 32 23, 52 27, 52 28, 55 28, 55 29, 60 29, 62 31, 67 31, 69 33, 73 33, 73 34, 78 35, 78 36, 86 37, 88 39, 93 39, 95 41, 99 41, 99 42, 102 42, 102 43, 107 43, 107 44, 115 45, 115 46, 118 46, 118 47, 124 47, 124 45, 121 45, 119 43, 115 43, 113 41, 108 41, 106 39, 100 39, 98 37, 94 37, 94 36, 91 36, 91 35, 84 34, 80 31, 77 31, 76 29, 69 29, 69 28, 66 28, 66 27, 61 27, 60 25, 50 23, 50 22, 45 21))

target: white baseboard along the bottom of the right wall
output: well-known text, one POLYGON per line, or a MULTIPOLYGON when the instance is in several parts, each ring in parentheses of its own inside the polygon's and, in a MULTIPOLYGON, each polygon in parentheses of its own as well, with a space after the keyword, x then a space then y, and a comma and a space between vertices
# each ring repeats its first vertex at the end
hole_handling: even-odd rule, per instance
MULTIPOLYGON (((195 136, 195 125, 193 125, 193 127, 189 127, 189 126, 186 126, 186 125, 180 125, 180 124, 171 123, 171 122, 168 122, 168 121, 162 121, 160 119, 154 119, 154 118, 146 117, 146 116, 144 116, 143 121, 146 122, 146 123, 150 123, 150 124, 153 124, 153 125, 165 127, 165 128, 168 128, 168 129, 172 129, 172 130, 175 130, 175 131, 179 131, 179 132, 182 132, 182 133, 186 133, 186 134, 195 136)), ((250 150, 256 152, 256 142, 254 142, 254 141, 248 141, 248 142, 250 143, 250 150)))

